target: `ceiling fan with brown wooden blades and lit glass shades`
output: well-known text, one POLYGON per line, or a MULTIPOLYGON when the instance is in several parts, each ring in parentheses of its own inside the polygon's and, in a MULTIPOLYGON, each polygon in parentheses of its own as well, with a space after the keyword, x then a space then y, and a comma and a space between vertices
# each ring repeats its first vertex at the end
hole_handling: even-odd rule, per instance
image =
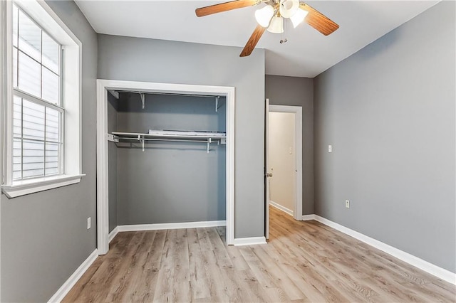
MULTIPOLYGON (((266 28, 271 33, 283 33, 284 18, 289 18, 295 28, 305 20, 306 23, 325 36, 328 36, 339 28, 338 24, 330 18, 324 16, 309 6, 309 4, 299 2, 299 0, 235 0, 200 7, 195 12, 198 17, 202 17, 222 13, 223 11, 231 11, 232 9, 242 9, 243 7, 261 3, 266 4, 266 6, 255 11, 255 18, 258 25, 244 46, 240 55, 241 57, 246 57, 252 53, 259 39, 263 36, 264 31, 266 31, 266 28)), ((286 42, 286 39, 284 41, 281 40, 282 42, 286 42)))

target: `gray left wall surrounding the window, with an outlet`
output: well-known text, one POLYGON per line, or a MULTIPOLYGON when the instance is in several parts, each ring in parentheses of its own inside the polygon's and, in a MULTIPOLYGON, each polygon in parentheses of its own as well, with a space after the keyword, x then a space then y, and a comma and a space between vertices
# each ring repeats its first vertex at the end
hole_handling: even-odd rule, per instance
POLYGON ((96 245, 97 36, 72 1, 47 1, 83 43, 81 183, 8 199, 1 195, 1 302, 45 302, 96 245))

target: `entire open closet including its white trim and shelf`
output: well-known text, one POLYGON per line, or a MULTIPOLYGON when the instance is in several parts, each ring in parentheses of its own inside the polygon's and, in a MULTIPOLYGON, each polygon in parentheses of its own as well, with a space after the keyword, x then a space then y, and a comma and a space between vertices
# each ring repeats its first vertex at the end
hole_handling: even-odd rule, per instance
POLYGON ((226 225, 234 87, 97 80, 98 253, 119 231, 226 225))

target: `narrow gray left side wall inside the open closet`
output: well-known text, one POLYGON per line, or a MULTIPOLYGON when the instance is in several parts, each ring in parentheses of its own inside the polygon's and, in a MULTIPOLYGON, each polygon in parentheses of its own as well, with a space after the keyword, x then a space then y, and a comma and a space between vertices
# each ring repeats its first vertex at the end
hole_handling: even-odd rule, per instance
MULTIPOLYGON (((119 101, 108 93, 108 133, 117 132, 118 129, 118 103, 119 101)), ((118 166, 117 146, 114 142, 108 142, 108 211, 109 231, 118 225, 118 166)))

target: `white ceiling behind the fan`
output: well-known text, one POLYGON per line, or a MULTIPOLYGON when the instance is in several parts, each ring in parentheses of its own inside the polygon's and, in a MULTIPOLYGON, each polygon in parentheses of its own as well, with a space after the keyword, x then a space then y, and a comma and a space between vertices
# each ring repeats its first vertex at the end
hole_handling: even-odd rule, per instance
MULTIPOLYGON (((198 7, 222 2, 76 0, 97 33, 244 47, 256 26, 254 11, 264 4, 195 15, 198 7)), ((313 78, 437 2, 306 1, 340 28, 323 36, 306 23, 296 29, 289 23, 283 34, 287 43, 266 31, 257 48, 266 50, 266 74, 313 78)))

